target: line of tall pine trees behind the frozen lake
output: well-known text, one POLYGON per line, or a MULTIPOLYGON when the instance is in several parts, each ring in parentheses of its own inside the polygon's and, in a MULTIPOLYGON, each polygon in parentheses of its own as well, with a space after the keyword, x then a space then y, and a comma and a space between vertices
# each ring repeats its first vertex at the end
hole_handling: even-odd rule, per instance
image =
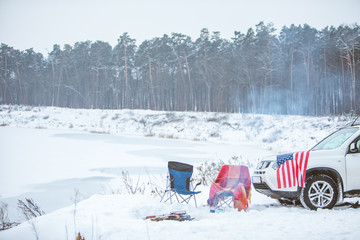
POLYGON ((136 45, 0 48, 0 103, 264 114, 360 114, 360 27, 260 22, 230 40, 204 28, 136 45))

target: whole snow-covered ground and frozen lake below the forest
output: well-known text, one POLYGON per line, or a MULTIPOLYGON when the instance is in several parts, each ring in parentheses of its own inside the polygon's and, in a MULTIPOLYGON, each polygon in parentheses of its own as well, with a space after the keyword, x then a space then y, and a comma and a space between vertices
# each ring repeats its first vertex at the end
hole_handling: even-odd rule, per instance
MULTIPOLYGON (((168 161, 197 166, 234 156, 251 172, 264 156, 305 150, 347 117, 75 110, 0 106, 0 202, 23 222, 0 239, 358 239, 359 209, 284 207, 253 191, 247 212, 160 203, 168 161), (125 173, 125 175, 123 175, 125 173), (129 173, 129 175, 126 175, 129 173), (130 194, 125 180, 139 191, 130 194), (132 181, 132 182, 131 182, 132 181), (154 193, 155 192, 155 193, 154 193), (24 221, 18 199, 45 215, 24 221), (185 210, 187 222, 148 215, 185 210)), ((194 175, 197 172, 195 170, 194 175)), ((349 201, 354 201, 353 199, 349 201)))

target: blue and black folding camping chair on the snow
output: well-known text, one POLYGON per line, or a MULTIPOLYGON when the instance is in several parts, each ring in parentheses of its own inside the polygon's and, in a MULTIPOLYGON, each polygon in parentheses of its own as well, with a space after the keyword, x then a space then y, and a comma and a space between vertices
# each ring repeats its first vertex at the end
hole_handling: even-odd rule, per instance
POLYGON ((168 198, 164 202, 170 200, 170 203, 172 203, 173 197, 175 197, 179 203, 189 203, 191 197, 194 197, 195 206, 197 207, 195 195, 201 193, 201 191, 195 191, 200 183, 196 184, 195 188, 190 190, 190 185, 192 185, 191 175, 193 173, 193 166, 180 162, 169 162, 168 170, 169 174, 167 177, 166 189, 161 201, 166 194, 168 194, 168 198))

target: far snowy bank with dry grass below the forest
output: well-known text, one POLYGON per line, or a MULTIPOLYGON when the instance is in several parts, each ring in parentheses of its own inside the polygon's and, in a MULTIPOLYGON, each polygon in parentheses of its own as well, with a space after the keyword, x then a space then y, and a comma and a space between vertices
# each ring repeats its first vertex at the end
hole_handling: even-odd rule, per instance
POLYGON ((93 133, 239 142, 275 151, 305 150, 348 117, 237 113, 89 110, 0 105, 0 125, 93 133))

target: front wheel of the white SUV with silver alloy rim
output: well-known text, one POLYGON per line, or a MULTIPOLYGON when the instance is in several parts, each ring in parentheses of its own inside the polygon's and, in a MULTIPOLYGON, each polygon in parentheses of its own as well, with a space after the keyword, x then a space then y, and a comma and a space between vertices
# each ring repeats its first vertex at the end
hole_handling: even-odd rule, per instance
POLYGON ((338 189, 331 177, 319 174, 306 179, 306 187, 301 189, 301 204, 311 210, 333 208, 337 202, 338 189))

